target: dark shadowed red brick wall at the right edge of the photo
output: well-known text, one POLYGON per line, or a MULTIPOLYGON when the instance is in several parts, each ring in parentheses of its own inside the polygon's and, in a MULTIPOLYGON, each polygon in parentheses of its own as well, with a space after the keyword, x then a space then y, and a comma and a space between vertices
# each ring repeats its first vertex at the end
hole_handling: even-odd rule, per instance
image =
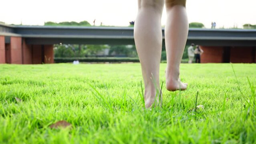
POLYGON ((230 49, 230 62, 232 63, 253 63, 254 50, 252 47, 232 47, 230 49))

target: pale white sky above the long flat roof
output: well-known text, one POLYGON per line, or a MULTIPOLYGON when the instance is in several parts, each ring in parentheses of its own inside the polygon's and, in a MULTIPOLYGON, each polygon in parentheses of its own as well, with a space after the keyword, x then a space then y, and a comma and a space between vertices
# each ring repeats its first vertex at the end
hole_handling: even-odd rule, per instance
MULTIPOLYGON (((6 24, 43 25, 44 22, 87 20, 96 25, 128 26, 135 20, 137 0, 1 0, 0 21, 6 24)), ((256 0, 187 0, 189 22, 211 22, 217 28, 256 24, 256 0)), ((166 14, 163 11, 162 25, 166 14)))

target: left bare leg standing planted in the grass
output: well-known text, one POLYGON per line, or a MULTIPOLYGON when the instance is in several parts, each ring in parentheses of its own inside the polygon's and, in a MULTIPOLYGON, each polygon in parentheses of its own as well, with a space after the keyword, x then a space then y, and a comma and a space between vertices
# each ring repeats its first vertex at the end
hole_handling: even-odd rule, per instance
POLYGON ((164 0, 138 0, 139 10, 134 26, 134 39, 141 62, 145 86, 145 106, 159 104, 159 65, 161 60, 161 16, 164 0))

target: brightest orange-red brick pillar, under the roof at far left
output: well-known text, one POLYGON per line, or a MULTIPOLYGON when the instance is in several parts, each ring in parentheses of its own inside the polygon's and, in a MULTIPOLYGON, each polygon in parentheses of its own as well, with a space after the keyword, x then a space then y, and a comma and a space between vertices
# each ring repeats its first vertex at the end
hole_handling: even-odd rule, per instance
POLYGON ((22 64, 22 46, 20 37, 11 37, 11 64, 22 64))

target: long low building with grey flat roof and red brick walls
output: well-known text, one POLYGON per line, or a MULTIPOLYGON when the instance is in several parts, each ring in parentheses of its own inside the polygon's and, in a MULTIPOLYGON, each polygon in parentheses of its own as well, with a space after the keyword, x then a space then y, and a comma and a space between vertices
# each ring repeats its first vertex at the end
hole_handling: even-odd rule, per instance
MULTIPOLYGON (((133 28, 0 24, 0 64, 54 63, 53 44, 59 43, 134 44, 133 28)), ((189 29, 190 43, 204 50, 202 63, 256 62, 256 30, 189 29)))

